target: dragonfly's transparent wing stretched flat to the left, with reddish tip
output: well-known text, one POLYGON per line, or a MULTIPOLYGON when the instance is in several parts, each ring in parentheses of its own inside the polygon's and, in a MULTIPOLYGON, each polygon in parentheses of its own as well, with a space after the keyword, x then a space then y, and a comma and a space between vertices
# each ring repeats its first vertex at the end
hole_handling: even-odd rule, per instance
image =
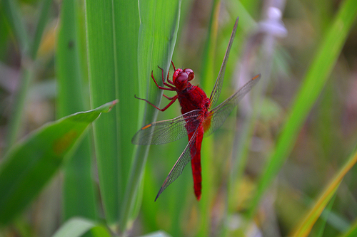
POLYGON ((201 115, 201 110, 192 110, 172 120, 152 122, 141 127, 141 130, 136 132, 131 139, 131 143, 149 145, 174 142, 196 130, 201 122, 198 119, 199 115, 201 115), (189 123, 190 126, 185 127, 186 123, 189 123))

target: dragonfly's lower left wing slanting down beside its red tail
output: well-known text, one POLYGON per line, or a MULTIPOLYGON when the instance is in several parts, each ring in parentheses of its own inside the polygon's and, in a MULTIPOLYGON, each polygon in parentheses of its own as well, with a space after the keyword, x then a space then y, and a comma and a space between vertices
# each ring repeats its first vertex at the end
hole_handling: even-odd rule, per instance
POLYGON ((186 164, 190 162, 192 157, 196 154, 195 140, 197 137, 197 131, 198 130, 196 130, 196 132, 191 137, 181 156, 178 157, 174 167, 172 167, 169 175, 166 177, 164 184, 162 184, 159 193, 156 195, 156 199, 158 199, 160 194, 182 174, 183 168, 186 167, 186 164))

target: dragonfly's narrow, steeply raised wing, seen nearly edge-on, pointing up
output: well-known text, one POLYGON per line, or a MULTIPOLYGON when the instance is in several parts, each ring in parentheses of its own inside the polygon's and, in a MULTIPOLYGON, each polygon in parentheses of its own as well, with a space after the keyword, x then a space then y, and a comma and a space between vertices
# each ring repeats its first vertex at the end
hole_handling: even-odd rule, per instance
POLYGON ((216 83, 214 84, 214 87, 213 87, 213 90, 211 93, 211 97, 209 98, 209 100, 211 101, 211 104, 209 105, 210 108, 214 107, 214 105, 216 105, 219 95, 221 94, 223 79, 224 79, 224 72, 226 71, 226 63, 228 61, 229 52, 231 51, 231 46, 233 43, 234 36, 236 36, 237 26, 238 26, 238 18, 236 19, 236 23, 234 24, 233 31, 231 34, 231 39, 229 40, 226 54, 224 55, 223 63, 221 65, 221 69, 219 70, 216 83))

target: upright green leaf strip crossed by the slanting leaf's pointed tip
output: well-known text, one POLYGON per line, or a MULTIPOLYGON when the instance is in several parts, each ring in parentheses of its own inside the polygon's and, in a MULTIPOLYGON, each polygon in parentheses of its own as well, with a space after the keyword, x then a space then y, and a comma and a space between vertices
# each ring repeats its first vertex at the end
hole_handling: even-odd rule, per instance
MULTIPOLYGON (((85 1, 91 107, 116 98, 114 22, 111 1, 85 1)), ((104 214, 109 224, 118 218, 119 159, 116 110, 93 126, 96 162, 104 214)))

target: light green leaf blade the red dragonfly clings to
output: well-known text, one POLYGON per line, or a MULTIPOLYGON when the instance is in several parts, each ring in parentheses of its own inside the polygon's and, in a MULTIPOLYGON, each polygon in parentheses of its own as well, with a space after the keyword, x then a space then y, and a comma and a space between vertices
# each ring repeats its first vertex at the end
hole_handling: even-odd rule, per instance
MULTIPOLYGON (((181 1, 139 1, 140 29, 138 46, 139 98, 159 105, 162 90, 152 83, 151 71, 157 82, 162 85, 160 66, 164 75, 169 71, 170 60, 174 52, 181 1)), ((157 110, 147 103, 139 103, 139 127, 156 120, 157 110), (144 113, 143 113, 144 112, 144 113), (144 117, 143 117, 144 116, 144 117)), ((121 228, 125 229, 132 216, 139 184, 144 177, 144 166, 149 151, 148 146, 136 146, 134 161, 126 185, 124 202, 121 204, 121 228)), ((153 197, 154 200, 154 197, 153 197)))

